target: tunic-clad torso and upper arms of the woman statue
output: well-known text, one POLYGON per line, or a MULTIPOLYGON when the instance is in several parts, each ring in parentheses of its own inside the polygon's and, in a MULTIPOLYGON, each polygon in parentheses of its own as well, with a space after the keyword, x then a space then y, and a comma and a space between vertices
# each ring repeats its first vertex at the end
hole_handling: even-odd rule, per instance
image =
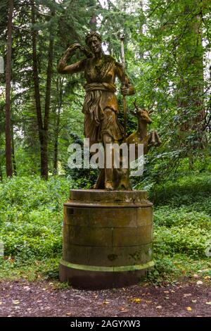
POLYGON ((84 58, 77 63, 65 67, 65 56, 60 60, 61 73, 79 73, 84 71, 87 80, 84 89, 84 136, 90 143, 102 142, 103 134, 107 133, 118 142, 123 137, 123 127, 117 120, 119 111, 115 96, 115 78, 131 87, 127 75, 124 75, 122 65, 110 55, 103 54, 99 64, 95 58, 84 58))

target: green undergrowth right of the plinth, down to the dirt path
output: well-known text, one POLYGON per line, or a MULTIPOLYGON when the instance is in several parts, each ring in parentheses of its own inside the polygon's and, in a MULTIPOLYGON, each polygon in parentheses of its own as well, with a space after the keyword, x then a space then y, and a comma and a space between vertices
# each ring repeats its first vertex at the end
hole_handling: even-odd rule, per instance
POLYGON ((154 211, 153 283, 211 279, 211 174, 192 173, 149 192, 154 211))

